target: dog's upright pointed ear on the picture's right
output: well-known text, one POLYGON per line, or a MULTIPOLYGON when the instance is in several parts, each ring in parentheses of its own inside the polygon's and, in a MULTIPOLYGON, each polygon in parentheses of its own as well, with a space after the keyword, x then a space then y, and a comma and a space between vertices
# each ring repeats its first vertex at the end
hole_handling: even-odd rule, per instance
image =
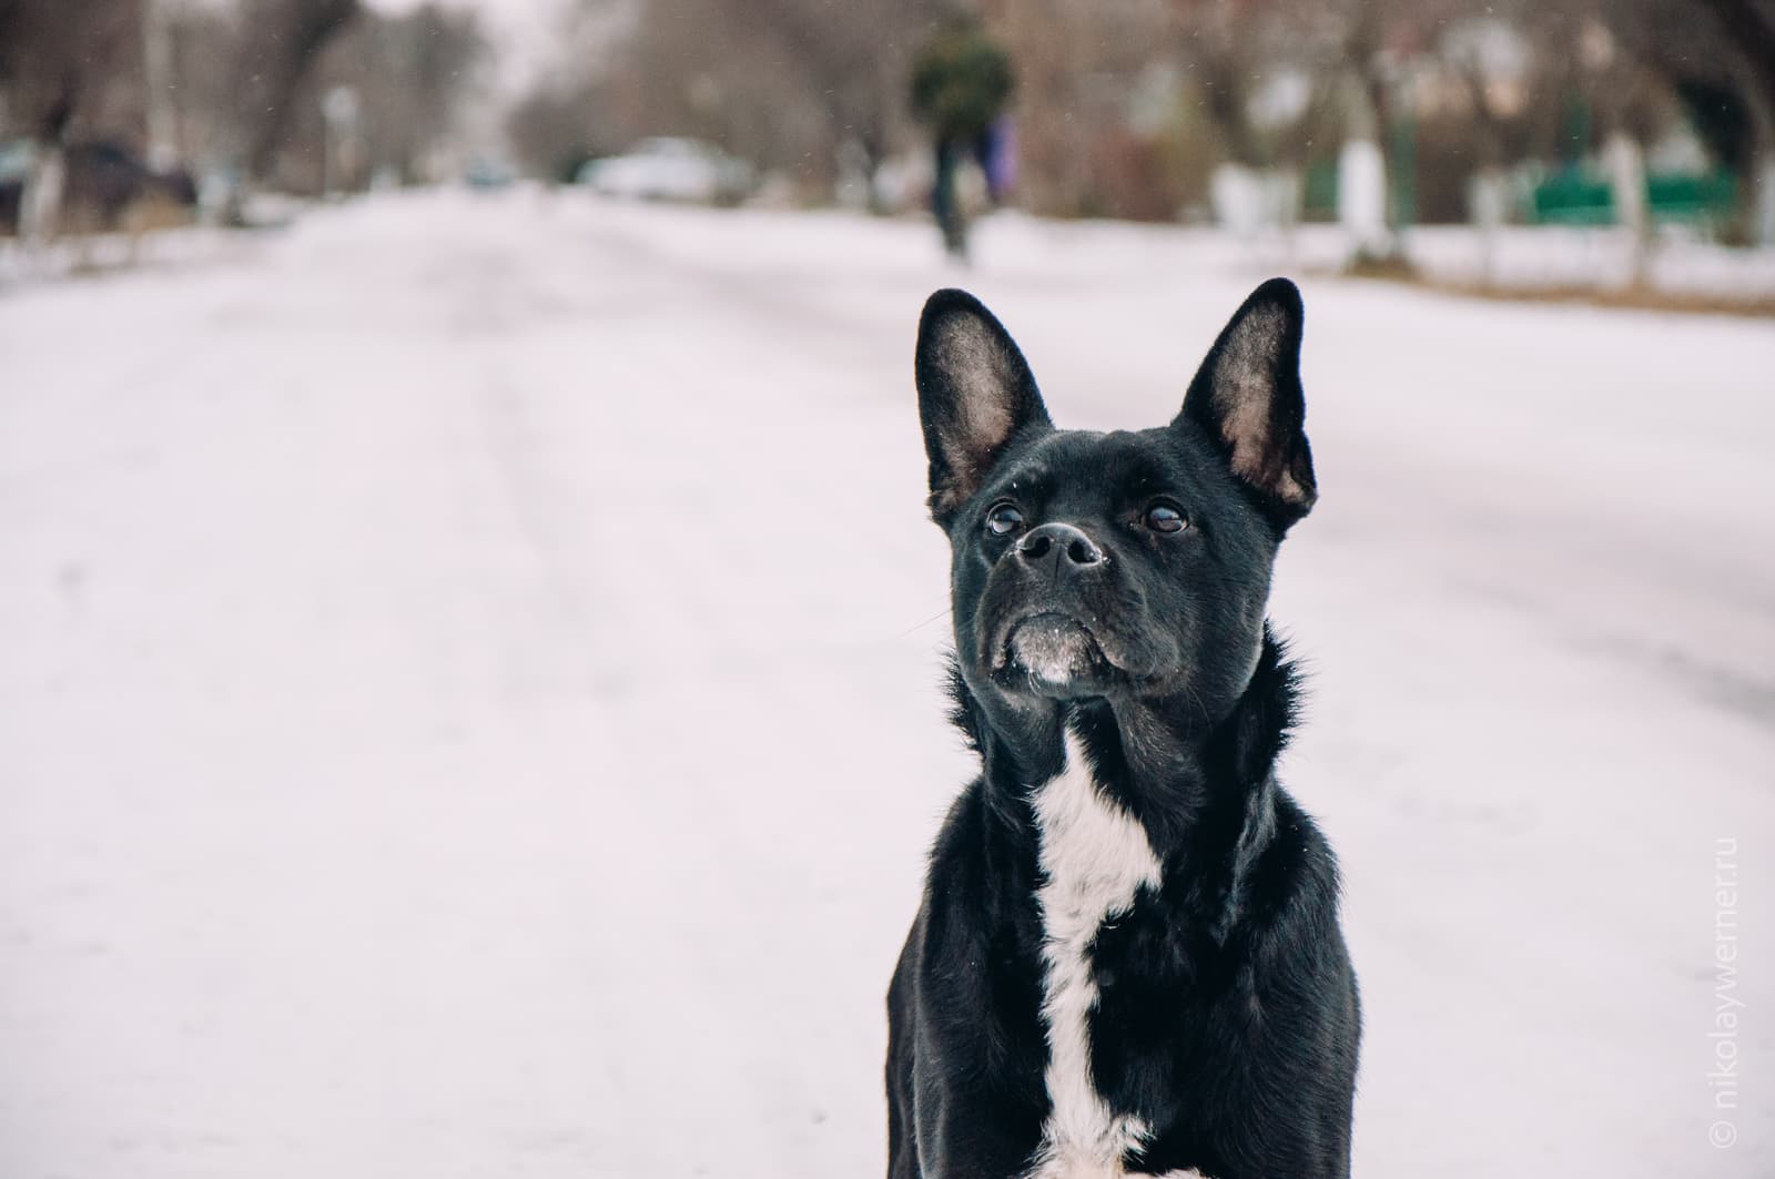
POLYGON ((1219 444, 1278 533, 1319 499, 1305 431, 1301 320, 1301 293, 1287 279, 1251 291, 1189 382, 1173 423, 1195 423, 1219 444))

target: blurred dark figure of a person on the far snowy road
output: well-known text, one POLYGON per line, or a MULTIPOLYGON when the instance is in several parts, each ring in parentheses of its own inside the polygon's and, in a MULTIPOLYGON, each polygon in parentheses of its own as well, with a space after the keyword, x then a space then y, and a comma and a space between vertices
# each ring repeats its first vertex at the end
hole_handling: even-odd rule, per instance
POLYGON ((951 257, 967 257, 967 211, 955 192, 960 165, 978 158, 992 199, 1003 195, 1010 140, 1001 115, 1014 87, 1010 55, 971 18, 946 25, 912 62, 912 114, 932 133, 930 206, 951 257))

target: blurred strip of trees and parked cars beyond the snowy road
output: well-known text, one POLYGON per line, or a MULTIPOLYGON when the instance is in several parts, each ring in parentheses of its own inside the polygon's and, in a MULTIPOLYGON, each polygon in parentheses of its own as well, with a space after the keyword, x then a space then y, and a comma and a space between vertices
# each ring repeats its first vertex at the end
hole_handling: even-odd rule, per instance
POLYGON ((969 208, 1340 222, 1333 261, 1381 273, 1775 293, 1766 261, 1654 257, 1775 240, 1766 0, 7 0, 0 53, 27 241, 520 176, 909 213, 948 138, 969 208), (1514 226, 1624 233, 1534 257, 1514 226))

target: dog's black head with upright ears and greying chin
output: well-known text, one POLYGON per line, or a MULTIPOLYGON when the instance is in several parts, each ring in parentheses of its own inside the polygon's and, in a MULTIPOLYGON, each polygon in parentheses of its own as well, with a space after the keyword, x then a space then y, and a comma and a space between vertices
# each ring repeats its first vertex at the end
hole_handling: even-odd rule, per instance
POLYGON ((953 545, 957 662, 1012 705, 1184 698, 1212 716, 1257 662, 1276 545, 1314 506, 1301 297, 1234 314, 1156 430, 1056 430, 1010 334, 937 291, 918 332, 930 513, 953 545))

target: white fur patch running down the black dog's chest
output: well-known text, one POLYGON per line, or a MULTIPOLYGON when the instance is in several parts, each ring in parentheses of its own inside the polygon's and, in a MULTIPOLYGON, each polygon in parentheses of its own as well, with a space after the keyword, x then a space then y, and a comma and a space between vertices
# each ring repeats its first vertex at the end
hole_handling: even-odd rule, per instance
MULTIPOLYGON (((1116 1115, 1092 1078, 1088 1017, 1097 1007, 1086 950, 1106 918, 1127 913, 1134 893, 1157 888, 1159 858, 1147 829, 1092 781, 1085 748, 1067 733, 1067 767, 1037 787, 1038 861, 1045 966, 1047 1097, 1042 1152, 1028 1179, 1116 1179, 1124 1152, 1152 1133, 1116 1115)), ((1193 1174, 1193 1172, 1191 1172, 1193 1174)))

